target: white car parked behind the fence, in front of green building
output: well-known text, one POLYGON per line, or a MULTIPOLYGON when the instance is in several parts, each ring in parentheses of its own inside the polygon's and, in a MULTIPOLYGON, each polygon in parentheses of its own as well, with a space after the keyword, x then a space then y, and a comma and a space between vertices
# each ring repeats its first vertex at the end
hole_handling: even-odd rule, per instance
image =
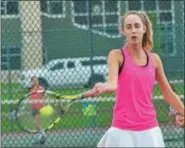
POLYGON ((63 58, 51 60, 41 69, 22 71, 20 83, 30 87, 31 77, 37 76, 44 87, 85 87, 106 81, 107 73, 106 57, 63 58))

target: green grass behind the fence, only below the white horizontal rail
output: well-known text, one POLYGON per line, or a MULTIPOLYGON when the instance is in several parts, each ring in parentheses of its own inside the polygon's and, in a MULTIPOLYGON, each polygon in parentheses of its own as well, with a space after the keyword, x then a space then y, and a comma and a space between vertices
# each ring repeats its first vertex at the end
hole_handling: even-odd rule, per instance
MULTIPOLYGON (((154 101, 157 119, 160 123, 168 122, 168 105, 164 100, 155 100, 154 101)), ((112 120, 112 108, 114 102, 97 102, 97 114, 96 120, 98 127, 107 127, 110 126, 112 120)), ((10 105, 3 105, 2 111, 5 113, 10 108, 10 105)), ((73 128, 84 128, 87 124, 91 124, 92 119, 87 119, 82 112, 82 103, 75 103, 71 106, 69 111, 66 113, 65 117, 60 121, 59 124, 54 129, 73 129, 73 128)), ((15 124, 15 121, 9 120, 7 114, 2 114, 1 120, 1 131, 5 132, 20 132, 19 127, 15 124)))

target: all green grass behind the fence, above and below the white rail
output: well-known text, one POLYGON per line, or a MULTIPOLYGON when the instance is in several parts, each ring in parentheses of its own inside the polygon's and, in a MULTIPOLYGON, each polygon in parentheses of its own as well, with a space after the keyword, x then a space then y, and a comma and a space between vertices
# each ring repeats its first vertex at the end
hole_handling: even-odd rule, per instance
MULTIPOLYGON (((178 94, 184 94, 184 85, 177 84, 175 85, 178 94)), ((2 90, 2 100, 8 99, 19 99, 22 97, 26 89, 22 88, 19 84, 12 84, 12 96, 9 94, 9 85, 1 84, 2 90)), ((63 93, 63 94, 78 94, 85 89, 54 89, 54 91, 63 93)), ((161 95, 159 87, 156 85, 154 88, 155 95, 161 95)), ((108 95, 104 95, 106 97, 108 95)), ((109 95, 110 96, 110 95, 109 95)), ((111 96, 114 96, 113 94, 111 96)), ((97 114, 96 120, 98 127, 105 127, 110 126, 112 120, 112 109, 113 109, 114 102, 111 101, 104 101, 104 102, 97 102, 97 114)), ((154 100, 154 105, 157 112, 157 119, 160 123, 168 122, 168 105, 162 99, 154 100)), ((9 120, 7 113, 15 108, 14 104, 3 104, 2 105, 2 117, 1 117, 1 131, 2 133, 5 132, 20 132, 20 128, 17 126, 15 121, 9 120)), ((82 113, 82 103, 75 103, 72 105, 68 113, 65 117, 60 121, 59 124, 56 125, 55 129, 73 129, 73 128, 83 128, 88 126, 88 124, 92 123, 92 118, 87 118, 82 113)))

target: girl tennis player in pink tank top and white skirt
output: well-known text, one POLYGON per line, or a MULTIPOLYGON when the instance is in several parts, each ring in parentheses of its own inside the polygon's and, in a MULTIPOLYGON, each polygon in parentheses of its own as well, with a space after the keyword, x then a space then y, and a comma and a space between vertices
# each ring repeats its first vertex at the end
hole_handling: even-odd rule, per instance
POLYGON ((108 81, 93 88, 94 96, 116 92, 112 125, 98 147, 164 147, 152 102, 155 80, 166 102, 182 116, 184 105, 171 89, 160 57, 151 52, 152 24, 146 13, 126 13, 121 31, 126 43, 108 55, 108 81))

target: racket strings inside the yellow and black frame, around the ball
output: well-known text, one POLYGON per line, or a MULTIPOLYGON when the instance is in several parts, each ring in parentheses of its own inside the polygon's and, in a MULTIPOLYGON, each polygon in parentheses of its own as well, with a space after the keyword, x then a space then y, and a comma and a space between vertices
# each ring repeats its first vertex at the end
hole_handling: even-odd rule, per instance
POLYGON ((60 101, 56 97, 41 92, 40 99, 30 99, 27 95, 17 107, 17 122, 19 127, 26 132, 37 133, 38 129, 46 130, 53 127, 55 122, 58 122, 59 114, 61 112, 60 101), (40 109, 46 105, 53 108, 53 113, 49 116, 43 116, 40 109))

